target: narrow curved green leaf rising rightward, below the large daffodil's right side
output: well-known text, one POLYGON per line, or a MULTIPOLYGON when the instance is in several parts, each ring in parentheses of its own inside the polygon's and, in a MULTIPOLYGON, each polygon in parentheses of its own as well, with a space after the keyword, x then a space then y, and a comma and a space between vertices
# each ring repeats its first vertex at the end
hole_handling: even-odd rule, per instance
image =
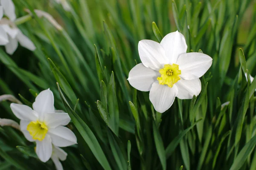
POLYGON ((198 122, 200 122, 203 118, 199 119, 195 123, 193 123, 189 128, 183 130, 172 142, 166 147, 166 158, 168 159, 169 156, 172 155, 172 152, 175 150, 177 145, 180 143, 180 140, 186 135, 186 133, 191 130, 198 122))

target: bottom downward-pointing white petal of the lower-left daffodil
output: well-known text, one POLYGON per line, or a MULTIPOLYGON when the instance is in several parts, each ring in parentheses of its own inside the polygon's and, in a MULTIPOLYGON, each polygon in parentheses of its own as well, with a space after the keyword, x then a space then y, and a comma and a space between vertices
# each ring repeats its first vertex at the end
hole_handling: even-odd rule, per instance
POLYGON ((42 162, 47 162, 52 155, 52 140, 46 135, 42 141, 36 140, 35 152, 42 162))

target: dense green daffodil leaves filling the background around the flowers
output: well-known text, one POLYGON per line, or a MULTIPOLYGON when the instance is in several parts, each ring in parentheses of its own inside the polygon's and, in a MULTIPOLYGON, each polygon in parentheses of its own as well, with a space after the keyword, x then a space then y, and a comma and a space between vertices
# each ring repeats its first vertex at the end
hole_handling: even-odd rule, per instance
MULTIPOLYGON (((63 26, 33 12, 18 26, 37 49, 19 47, 12 56, 0 49, 0 94, 30 105, 40 91, 53 91, 55 108, 69 113, 78 138, 64 148, 64 169, 256 169, 256 78, 244 76, 256 75, 255 0, 71 0, 70 12, 48 0, 13 1, 18 17, 37 8, 63 26), (198 97, 175 99, 157 113, 148 92, 129 85, 128 73, 141 62, 140 40, 160 41, 176 30, 187 52, 201 50, 213 64, 198 97)), ((0 103, 0 118, 19 121, 9 101, 0 103)), ((0 127, 0 170, 53 169, 34 146, 0 127)))

